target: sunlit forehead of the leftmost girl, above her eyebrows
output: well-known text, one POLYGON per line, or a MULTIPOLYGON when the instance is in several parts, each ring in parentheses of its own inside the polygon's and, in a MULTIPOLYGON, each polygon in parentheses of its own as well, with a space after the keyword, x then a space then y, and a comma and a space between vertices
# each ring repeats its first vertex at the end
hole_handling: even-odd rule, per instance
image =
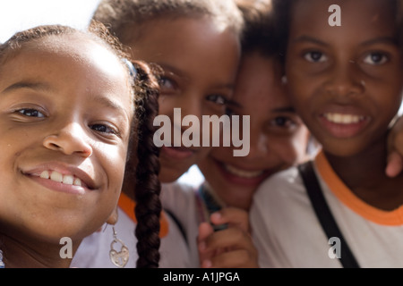
POLYGON ((82 99, 113 97, 116 105, 132 109, 124 64, 107 47, 87 38, 68 35, 24 43, 0 67, 0 89, 21 83, 80 94, 82 99))

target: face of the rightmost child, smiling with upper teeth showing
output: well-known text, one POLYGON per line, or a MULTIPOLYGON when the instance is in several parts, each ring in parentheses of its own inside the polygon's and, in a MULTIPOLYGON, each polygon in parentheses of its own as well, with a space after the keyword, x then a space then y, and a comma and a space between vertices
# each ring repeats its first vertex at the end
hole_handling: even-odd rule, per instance
POLYGON ((297 112, 325 150, 351 156, 384 137, 399 110, 402 64, 389 1, 296 1, 287 80, 297 112))

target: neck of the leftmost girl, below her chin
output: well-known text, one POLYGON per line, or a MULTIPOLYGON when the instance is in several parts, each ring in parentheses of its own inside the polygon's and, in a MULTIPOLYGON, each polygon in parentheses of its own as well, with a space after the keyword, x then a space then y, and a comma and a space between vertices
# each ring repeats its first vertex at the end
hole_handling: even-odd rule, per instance
POLYGON ((70 258, 60 257, 63 245, 37 243, 36 240, 15 240, 3 233, 0 233, 0 239, 6 268, 69 268, 72 262, 70 258))

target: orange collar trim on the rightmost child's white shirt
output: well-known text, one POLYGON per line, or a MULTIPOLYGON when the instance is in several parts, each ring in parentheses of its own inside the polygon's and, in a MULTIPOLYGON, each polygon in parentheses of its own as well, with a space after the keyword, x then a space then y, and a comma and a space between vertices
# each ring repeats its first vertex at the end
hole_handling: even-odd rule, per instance
POLYGON ((331 168, 328 159, 321 151, 315 158, 315 164, 322 176, 322 180, 330 187, 333 194, 356 214, 378 224, 399 226, 403 224, 403 206, 393 211, 384 211, 368 205, 340 180, 339 176, 331 168))

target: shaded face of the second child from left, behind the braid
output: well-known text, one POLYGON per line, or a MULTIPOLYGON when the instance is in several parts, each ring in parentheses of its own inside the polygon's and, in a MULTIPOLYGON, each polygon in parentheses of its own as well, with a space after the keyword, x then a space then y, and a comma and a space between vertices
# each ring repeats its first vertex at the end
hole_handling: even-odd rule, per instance
MULTIPOLYGON (((181 109, 181 119, 196 116, 200 130, 202 115, 224 114, 223 99, 232 97, 240 56, 236 35, 220 30, 209 18, 159 19, 144 27, 130 45, 133 58, 163 68, 159 114, 170 118, 172 134, 175 128, 181 135, 189 128, 174 126, 174 108, 181 109)), ((202 145, 201 132, 193 136, 202 145)), ((173 138, 168 141, 174 146, 173 138)), ((209 151, 210 147, 162 147, 160 181, 175 181, 209 151)))

